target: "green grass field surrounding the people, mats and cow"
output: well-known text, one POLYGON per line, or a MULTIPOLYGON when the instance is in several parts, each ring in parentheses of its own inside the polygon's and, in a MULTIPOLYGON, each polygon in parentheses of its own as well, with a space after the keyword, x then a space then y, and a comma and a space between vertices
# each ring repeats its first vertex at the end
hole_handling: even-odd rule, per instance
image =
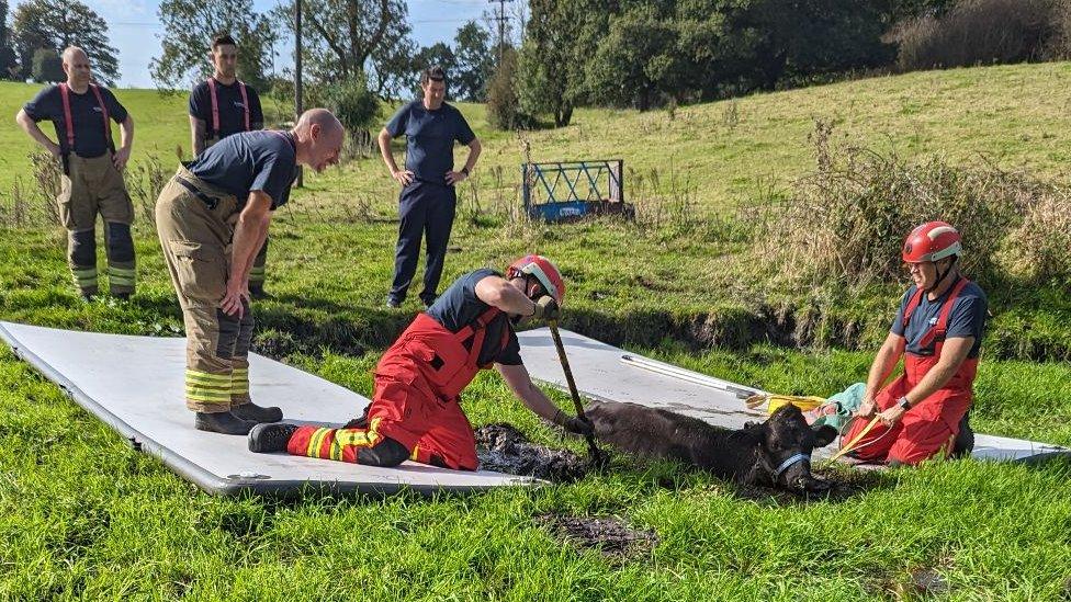
MULTIPOLYGON (((527 136, 538 160, 613 155, 647 182, 657 171, 661 186, 638 186, 651 202, 672 196, 676 178, 691 191, 680 213, 707 215, 811 169, 815 118, 876 148, 963 164, 984 158, 1062 180, 1068 75, 1069 64, 912 73, 681 107, 672 120, 582 110, 567 128, 527 136)), ((13 115, 33 90, 0 86, 0 106, 13 115)), ((184 98, 117 93, 137 121, 134 160, 173 162, 174 147, 189 146, 184 98)), ((489 130, 482 107, 463 110, 485 141, 474 179, 481 207, 512 202, 520 140, 489 130)), ((0 143, 4 198, 26 178, 30 146, 13 124, 0 143)), ((403 311, 382 307, 396 226, 369 217, 390 217, 396 191, 377 159, 307 182, 272 226, 273 298, 257 308, 257 345, 369 395, 377 354, 418 309, 412 299, 403 311)), ((749 282, 753 241, 735 217, 546 227, 477 212, 471 195, 463 191, 444 281, 527 250, 552 254, 570 285, 567 327, 769 390, 828 395, 863 379, 865 348, 895 303, 894 288, 830 300, 749 282), (799 323, 777 314, 791 298, 835 308, 811 327, 850 327, 850 347, 864 349, 792 348, 799 323)), ((149 205, 138 203, 140 218, 149 205)), ((69 287, 63 231, 4 224, 0 319, 180 333, 151 224, 142 218, 135 232, 137 295, 86 305, 69 287)), ((1067 291, 990 294, 974 428, 1071 445, 1067 291)), ((539 442, 582 448, 538 423, 494 375, 464 398, 476 424, 508 420, 539 442)), ((878 476, 846 501, 797 504, 619 457, 606 474, 540 490, 224 500, 133 452, 0 351, 0 599, 1060 600, 1071 595, 1069 468, 932 464, 878 476), (658 543, 602 555, 555 538, 538 521, 548 513, 617 516, 658 543), (927 573, 936 586, 918 584, 927 573)))

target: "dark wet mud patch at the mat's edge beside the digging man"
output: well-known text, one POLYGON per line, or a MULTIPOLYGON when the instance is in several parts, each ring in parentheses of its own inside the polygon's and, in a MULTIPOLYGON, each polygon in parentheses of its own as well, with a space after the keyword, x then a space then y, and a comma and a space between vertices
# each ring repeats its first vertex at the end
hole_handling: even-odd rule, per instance
POLYGON ((584 478, 588 462, 568 451, 552 450, 528 440, 514 425, 495 422, 476 429, 480 467, 509 475, 522 475, 552 482, 573 482, 584 478))

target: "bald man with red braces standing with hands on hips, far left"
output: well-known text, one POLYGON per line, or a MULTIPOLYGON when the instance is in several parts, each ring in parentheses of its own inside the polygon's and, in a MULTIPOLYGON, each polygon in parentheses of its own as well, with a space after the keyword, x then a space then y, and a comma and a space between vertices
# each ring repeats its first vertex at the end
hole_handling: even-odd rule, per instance
POLYGON ((92 83, 92 68, 86 53, 76 46, 64 50, 67 81, 49 86, 19 111, 15 122, 63 163, 56 202, 59 219, 67 228, 67 261, 82 298, 98 293, 97 215, 104 223, 109 288, 125 299, 134 293, 134 204, 123 182, 123 169, 134 144, 134 120, 115 95, 92 83), (52 141, 37 122, 52 121, 52 141), (109 120, 120 124, 122 144, 112 141, 109 120))

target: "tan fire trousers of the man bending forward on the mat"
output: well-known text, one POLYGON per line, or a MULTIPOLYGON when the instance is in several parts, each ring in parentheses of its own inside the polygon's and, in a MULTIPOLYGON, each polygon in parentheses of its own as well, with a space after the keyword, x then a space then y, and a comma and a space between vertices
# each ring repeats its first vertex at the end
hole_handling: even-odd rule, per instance
POLYGON ((248 304, 241 318, 219 309, 230 273, 229 219, 237 213, 233 195, 202 182, 185 168, 179 168, 156 202, 164 259, 185 322, 185 404, 193 411, 224 412, 250 401, 252 314, 248 304))

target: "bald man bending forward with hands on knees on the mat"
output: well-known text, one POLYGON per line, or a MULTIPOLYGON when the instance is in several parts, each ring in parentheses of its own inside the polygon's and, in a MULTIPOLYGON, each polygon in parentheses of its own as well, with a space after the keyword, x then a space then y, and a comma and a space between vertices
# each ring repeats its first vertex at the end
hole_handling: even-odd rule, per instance
POLYGON ((185 405, 198 430, 245 435, 282 420, 249 397, 249 272, 297 166, 336 163, 342 138, 335 115, 313 109, 290 132, 227 136, 160 191, 156 228, 185 321, 185 405))

